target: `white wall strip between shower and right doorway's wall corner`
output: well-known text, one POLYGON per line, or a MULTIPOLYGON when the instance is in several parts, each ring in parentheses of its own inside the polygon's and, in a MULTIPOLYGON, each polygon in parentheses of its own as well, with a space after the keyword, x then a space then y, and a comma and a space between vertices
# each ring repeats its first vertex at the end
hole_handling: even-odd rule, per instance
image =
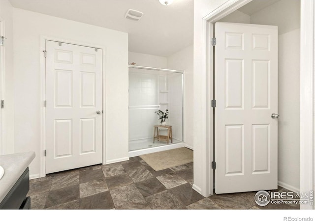
POLYGON ((167 68, 184 70, 184 141, 193 148, 193 45, 167 57, 167 68))

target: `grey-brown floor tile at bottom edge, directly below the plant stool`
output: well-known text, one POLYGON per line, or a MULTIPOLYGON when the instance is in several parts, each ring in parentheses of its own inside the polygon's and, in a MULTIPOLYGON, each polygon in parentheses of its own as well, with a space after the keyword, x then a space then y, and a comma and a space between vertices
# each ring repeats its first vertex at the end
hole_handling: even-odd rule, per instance
POLYGON ((172 193, 163 191, 150 195, 145 198, 148 205, 152 209, 174 210, 174 209, 187 209, 185 205, 177 199, 172 193))

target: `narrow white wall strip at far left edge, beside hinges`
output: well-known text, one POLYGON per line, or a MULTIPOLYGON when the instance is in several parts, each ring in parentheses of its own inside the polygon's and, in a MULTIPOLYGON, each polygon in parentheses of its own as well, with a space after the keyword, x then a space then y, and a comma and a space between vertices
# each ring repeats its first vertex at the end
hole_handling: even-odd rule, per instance
MULTIPOLYGON (((0 110, 4 116, 2 144, 0 144, 0 154, 10 154, 14 152, 14 118, 13 118, 13 8, 8 0, 0 0, 0 21, 4 23, 4 94, 1 98, 5 101, 5 108, 0 110), (1 150, 2 148, 2 150, 1 150)), ((1 86, 0 86, 1 88, 1 86)), ((2 120, 2 119, 0 119, 2 120)), ((1 136, 1 134, 0 134, 1 136)), ((1 141, 0 139, 0 141, 1 141)))

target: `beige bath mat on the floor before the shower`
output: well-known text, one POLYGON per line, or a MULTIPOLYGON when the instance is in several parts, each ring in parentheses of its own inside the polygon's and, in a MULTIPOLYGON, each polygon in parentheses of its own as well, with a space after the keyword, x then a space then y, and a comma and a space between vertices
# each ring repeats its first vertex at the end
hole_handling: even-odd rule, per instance
POLYGON ((193 151, 186 147, 181 147, 157 153, 144 154, 139 157, 154 170, 158 171, 193 162, 193 151))

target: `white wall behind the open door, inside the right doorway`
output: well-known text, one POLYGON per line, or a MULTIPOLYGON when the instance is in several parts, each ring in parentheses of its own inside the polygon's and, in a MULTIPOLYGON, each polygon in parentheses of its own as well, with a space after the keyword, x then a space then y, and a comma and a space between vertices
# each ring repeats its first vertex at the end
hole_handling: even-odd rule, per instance
POLYGON ((300 1, 280 0, 251 16, 252 24, 278 26, 278 180, 300 189, 300 1))

